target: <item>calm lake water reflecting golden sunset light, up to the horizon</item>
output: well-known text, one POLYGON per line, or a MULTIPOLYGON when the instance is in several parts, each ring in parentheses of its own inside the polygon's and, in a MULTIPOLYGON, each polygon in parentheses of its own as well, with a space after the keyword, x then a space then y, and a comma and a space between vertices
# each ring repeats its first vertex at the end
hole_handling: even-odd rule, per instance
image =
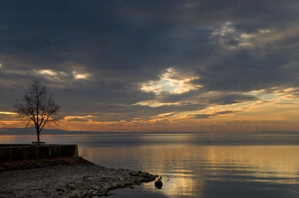
MULTIPOLYGON (((29 143, 36 135, 1 135, 29 143)), ((79 155, 108 168, 144 170, 154 183, 113 191, 111 198, 298 198, 298 133, 43 135, 48 144, 78 144, 79 155)))

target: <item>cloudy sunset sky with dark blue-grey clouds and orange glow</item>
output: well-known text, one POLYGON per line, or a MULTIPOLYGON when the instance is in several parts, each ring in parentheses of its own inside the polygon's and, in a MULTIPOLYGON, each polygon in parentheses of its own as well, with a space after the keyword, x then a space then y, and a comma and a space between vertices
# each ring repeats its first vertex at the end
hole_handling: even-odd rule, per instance
POLYGON ((1 0, 1 126, 40 81, 64 130, 299 130, 298 15, 297 0, 1 0))

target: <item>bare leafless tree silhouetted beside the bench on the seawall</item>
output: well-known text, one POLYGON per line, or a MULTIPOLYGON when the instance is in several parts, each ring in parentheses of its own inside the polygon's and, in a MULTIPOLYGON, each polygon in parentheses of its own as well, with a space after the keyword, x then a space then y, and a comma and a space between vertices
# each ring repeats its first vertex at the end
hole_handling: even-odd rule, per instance
POLYGON ((38 144, 39 133, 45 124, 50 122, 56 124, 60 119, 54 117, 60 110, 60 105, 55 103, 52 95, 48 95, 46 87, 35 81, 23 96, 23 102, 16 100, 13 104, 19 118, 26 123, 26 126, 35 126, 38 144))

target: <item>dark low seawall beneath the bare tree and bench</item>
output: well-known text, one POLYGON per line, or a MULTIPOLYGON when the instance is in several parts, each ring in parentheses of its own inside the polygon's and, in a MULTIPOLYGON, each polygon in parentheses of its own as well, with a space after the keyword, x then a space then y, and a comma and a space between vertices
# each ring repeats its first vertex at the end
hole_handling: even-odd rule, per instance
POLYGON ((57 157, 78 157, 78 146, 76 144, 0 144, 0 162, 57 157))

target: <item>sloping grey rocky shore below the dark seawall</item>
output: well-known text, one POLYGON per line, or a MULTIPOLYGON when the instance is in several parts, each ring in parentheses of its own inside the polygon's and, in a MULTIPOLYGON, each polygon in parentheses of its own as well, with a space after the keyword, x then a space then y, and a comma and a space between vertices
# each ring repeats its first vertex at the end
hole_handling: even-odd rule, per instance
POLYGON ((108 169, 80 157, 1 163, 0 198, 97 198, 155 177, 142 171, 108 169))

